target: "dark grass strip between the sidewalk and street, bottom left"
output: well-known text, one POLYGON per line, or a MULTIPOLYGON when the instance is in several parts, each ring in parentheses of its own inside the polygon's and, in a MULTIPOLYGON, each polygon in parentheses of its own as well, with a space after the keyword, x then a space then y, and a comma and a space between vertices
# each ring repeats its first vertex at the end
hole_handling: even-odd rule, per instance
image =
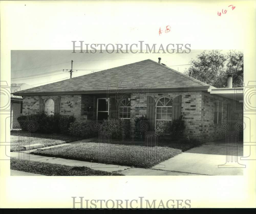
POLYGON ((105 172, 93 170, 88 167, 70 167, 67 165, 44 163, 38 161, 18 161, 15 158, 10 159, 10 166, 13 170, 30 172, 34 174, 48 176, 105 176, 105 175, 122 175, 115 172, 105 172))

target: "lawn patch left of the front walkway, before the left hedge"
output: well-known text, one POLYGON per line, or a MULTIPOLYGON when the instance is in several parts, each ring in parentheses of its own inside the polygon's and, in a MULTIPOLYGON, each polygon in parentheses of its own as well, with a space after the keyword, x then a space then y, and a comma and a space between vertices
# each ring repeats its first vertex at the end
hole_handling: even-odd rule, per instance
MULTIPOLYGON (((18 136, 27 136, 24 134, 18 134, 17 131, 10 132, 10 141, 11 141, 11 148, 10 151, 20 151, 20 143, 25 141, 26 139, 19 141, 18 136)), ((81 140, 78 137, 72 137, 69 135, 63 134, 40 134, 40 133, 31 133, 29 138, 29 144, 44 144, 44 146, 53 146, 58 144, 65 144, 68 142, 73 142, 81 140)))

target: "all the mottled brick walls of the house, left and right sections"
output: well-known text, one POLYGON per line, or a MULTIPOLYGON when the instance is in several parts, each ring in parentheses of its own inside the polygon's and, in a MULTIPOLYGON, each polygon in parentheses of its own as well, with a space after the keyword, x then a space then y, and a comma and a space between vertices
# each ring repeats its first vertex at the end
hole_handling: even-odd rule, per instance
MULTIPOLYGON (((225 138, 225 132, 218 129, 218 124, 214 124, 214 106, 216 101, 223 102, 223 121, 227 120, 228 105, 230 107, 229 119, 242 121, 242 118, 239 116, 243 109, 242 103, 236 103, 236 106, 240 106, 241 111, 235 112, 234 101, 232 99, 223 98, 201 91, 131 94, 131 118, 147 115, 147 95, 151 96, 155 102, 162 97, 174 99, 175 97, 182 95, 181 112, 184 116, 185 125, 187 127, 185 134, 190 138, 195 138, 200 141, 214 141, 225 138)), ((80 117, 83 119, 96 120, 97 98, 104 97, 104 95, 93 96, 80 94, 60 96, 24 96, 23 115, 39 112, 39 98, 44 99, 44 102, 46 102, 46 100, 49 98, 54 100, 57 97, 60 97, 61 115, 74 115, 75 117, 80 117), (72 108, 69 106, 70 103, 72 108), (92 107, 89 110, 88 107, 90 106, 92 107)), ((109 105, 109 109, 111 109, 111 97, 109 105)), ((230 130, 233 130, 233 128, 234 127, 231 124, 230 130)))

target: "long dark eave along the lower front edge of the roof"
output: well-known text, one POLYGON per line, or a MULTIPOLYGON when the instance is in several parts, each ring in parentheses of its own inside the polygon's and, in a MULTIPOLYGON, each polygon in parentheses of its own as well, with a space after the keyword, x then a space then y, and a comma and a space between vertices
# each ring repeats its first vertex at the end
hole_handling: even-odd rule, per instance
MULTIPOLYGON (((111 89, 122 90, 126 89, 125 87, 116 87, 111 89)), ((148 92, 174 92, 174 91, 207 91, 209 86, 197 86, 197 87, 179 87, 179 88, 148 88, 147 87, 135 87, 133 89, 145 89, 148 92)), ((49 91, 49 92, 19 92, 13 93, 14 95, 19 96, 33 96, 33 95, 63 95, 63 94, 106 94, 108 90, 86 90, 86 91, 49 91)))

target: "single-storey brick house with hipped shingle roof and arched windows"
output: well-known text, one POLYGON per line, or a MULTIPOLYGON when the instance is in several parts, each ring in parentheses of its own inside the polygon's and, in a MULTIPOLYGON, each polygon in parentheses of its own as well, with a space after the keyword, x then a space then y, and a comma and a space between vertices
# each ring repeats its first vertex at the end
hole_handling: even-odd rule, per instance
POLYGON ((74 115, 83 120, 144 115, 149 129, 184 115, 186 134, 201 141, 225 137, 220 121, 241 120, 243 89, 217 89, 159 61, 144 60, 20 92, 23 114, 74 115), (238 91, 234 96, 234 92, 238 91))

